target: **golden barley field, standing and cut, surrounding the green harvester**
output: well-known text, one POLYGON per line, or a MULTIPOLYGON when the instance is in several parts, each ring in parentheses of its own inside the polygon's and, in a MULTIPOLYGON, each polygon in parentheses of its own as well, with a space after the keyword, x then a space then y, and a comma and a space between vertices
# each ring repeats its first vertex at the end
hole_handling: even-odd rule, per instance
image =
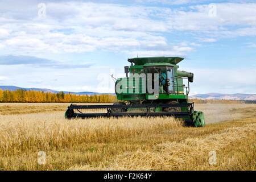
POLYGON ((68 105, 0 104, 0 170, 256 168, 256 105, 196 104, 203 128, 171 117, 66 120, 68 105))

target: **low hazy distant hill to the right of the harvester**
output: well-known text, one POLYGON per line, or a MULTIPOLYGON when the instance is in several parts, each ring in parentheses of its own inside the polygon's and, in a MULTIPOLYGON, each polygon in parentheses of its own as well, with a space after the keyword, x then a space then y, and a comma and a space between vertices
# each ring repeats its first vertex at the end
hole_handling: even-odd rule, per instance
POLYGON ((235 93, 235 94, 221 94, 221 93, 207 93, 207 94, 196 94, 190 96, 191 99, 207 99, 207 100, 256 100, 256 94, 244 94, 244 93, 235 93))

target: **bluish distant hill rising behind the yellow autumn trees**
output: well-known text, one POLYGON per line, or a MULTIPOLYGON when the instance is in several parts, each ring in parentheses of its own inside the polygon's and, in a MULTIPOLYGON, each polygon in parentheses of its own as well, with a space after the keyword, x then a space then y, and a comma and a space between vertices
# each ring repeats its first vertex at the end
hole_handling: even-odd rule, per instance
MULTIPOLYGON (((35 91, 43 91, 43 92, 50 92, 50 93, 59 93, 61 91, 56 91, 56 90, 51 90, 51 89, 40 89, 40 88, 21 88, 18 86, 0 86, 0 89, 2 90, 10 90, 10 91, 14 91, 14 90, 18 90, 18 89, 23 89, 23 90, 35 90, 35 91)), ((65 94, 69 93, 67 91, 63 91, 65 94)), ((92 96, 94 94, 96 95, 101 95, 101 94, 112 94, 115 95, 114 93, 98 93, 98 92, 70 92, 71 94, 77 94, 77 95, 88 95, 88 96, 92 96)))

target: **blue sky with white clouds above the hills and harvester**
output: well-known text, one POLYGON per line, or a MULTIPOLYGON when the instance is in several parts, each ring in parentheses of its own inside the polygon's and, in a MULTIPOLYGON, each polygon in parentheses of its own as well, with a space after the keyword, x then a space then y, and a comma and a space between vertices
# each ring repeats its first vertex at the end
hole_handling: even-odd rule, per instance
POLYGON ((184 57, 190 95, 255 94, 256 1, 0 2, 0 85, 114 93, 137 56, 184 57))

